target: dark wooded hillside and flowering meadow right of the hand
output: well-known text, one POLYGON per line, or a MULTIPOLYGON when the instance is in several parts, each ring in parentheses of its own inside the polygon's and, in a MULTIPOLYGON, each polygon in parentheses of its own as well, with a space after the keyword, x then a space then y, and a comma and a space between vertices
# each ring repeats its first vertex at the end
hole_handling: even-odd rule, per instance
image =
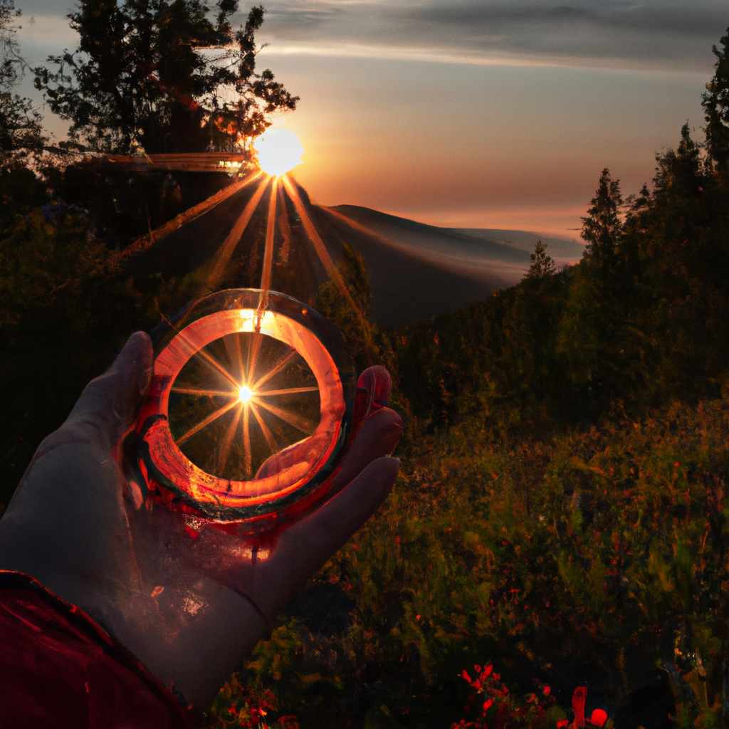
MULTIPOLYGON (((217 725, 246 725, 268 691, 305 726, 557 726, 584 685, 609 722, 663 727, 668 712, 618 712, 656 666, 676 725, 725 725, 722 43, 708 139, 685 126, 625 200, 604 170, 579 265, 555 272, 535 253, 512 289, 370 332, 408 416, 402 477, 225 687, 217 725), (508 691, 483 693, 487 664, 508 691)), ((338 323, 362 348, 361 328, 338 323)))

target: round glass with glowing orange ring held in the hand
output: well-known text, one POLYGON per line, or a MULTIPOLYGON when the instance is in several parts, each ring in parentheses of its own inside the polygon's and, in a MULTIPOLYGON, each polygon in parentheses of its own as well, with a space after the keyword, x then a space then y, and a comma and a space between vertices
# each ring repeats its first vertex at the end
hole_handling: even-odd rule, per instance
POLYGON ((136 448, 147 489, 172 507, 268 523, 327 496, 354 368, 323 316, 267 293, 211 294, 153 332, 136 448))

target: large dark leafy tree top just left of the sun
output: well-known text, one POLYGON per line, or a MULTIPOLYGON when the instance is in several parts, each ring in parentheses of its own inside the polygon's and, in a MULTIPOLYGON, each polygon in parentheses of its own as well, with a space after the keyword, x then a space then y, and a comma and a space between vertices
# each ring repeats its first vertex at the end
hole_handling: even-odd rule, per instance
POLYGON ((48 59, 55 73, 36 69, 36 87, 83 149, 231 149, 298 98, 270 70, 255 72, 263 7, 235 33, 238 0, 216 9, 212 22, 200 0, 81 0, 69 15, 77 49, 48 59))

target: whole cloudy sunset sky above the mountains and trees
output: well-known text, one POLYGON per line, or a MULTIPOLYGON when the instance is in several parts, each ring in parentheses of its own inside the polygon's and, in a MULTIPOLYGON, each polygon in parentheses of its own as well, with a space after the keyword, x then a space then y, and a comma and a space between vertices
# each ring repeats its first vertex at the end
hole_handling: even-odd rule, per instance
MULTIPOLYGON (((603 168, 629 195, 685 122, 703 137, 729 26, 725 0, 263 4, 259 68, 300 96, 274 128, 302 142, 295 176, 317 202, 561 238, 579 235, 603 168)), ((73 5, 16 0, 31 65, 74 47, 73 5)))

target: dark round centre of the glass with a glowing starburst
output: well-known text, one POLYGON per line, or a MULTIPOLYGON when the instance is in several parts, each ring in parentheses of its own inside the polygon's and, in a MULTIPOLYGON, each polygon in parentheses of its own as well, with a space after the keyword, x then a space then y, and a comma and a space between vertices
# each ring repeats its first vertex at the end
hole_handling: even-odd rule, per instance
POLYGON ((319 386, 286 343, 235 332, 184 364, 168 418, 174 442, 193 464, 219 478, 250 480, 271 456, 314 432, 319 386))

